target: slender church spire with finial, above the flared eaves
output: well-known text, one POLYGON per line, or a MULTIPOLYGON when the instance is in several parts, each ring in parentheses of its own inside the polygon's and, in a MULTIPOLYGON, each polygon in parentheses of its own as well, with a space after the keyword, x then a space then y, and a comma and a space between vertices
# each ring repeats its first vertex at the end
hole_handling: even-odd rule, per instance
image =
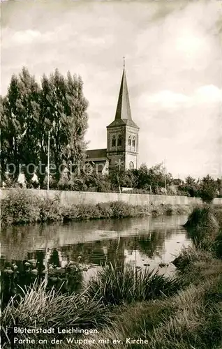
POLYGON ((124 57, 124 70, 123 70, 123 75, 121 77, 117 111, 115 116, 115 120, 118 120, 118 119, 132 120, 131 105, 129 102, 128 87, 126 82, 125 57, 124 57))

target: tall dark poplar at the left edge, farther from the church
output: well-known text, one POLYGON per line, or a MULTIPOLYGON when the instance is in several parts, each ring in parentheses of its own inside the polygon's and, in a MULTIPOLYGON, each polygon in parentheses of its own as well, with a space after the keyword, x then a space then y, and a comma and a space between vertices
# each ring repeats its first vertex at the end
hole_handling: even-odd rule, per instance
POLYGON ((1 105, 1 142, 3 151, 1 161, 3 172, 6 171, 6 163, 15 166, 15 174, 11 176, 17 179, 20 171, 28 169, 25 173, 28 180, 38 163, 38 138, 36 131, 39 126, 39 93, 40 88, 34 76, 29 74, 27 68, 17 77, 13 75, 10 80, 8 92, 2 99, 1 105), (25 166, 23 167, 22 164, 25 166), (27 168, 29 165, 29 168, 27 168))

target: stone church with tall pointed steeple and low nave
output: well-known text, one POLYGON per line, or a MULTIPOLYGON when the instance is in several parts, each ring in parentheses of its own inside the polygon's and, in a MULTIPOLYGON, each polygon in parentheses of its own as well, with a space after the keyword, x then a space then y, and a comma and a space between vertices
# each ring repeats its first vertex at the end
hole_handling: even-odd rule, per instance
POLYGON ((107 148, 87 150, 86 163, 91 163, 103 174, 115 166, 121 170, 138 169, 138 135, 139 127, 131 116, 124 64, 115 118, 107 126, 107 148))

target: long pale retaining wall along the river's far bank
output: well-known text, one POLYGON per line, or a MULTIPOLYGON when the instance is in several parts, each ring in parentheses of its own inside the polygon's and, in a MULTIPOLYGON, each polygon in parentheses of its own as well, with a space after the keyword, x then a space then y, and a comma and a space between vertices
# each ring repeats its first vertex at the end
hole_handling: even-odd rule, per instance
MULTIPOLYGON (((21 189, 1 188, 0 195, 4 198, 9 191, 21 189)), ((188 198, 187 196, 173 195, 149 195, 131 193, 95 193, 89 191, 47 191, 38 189, 22 189, 30 195, 39 195, 41 198, 55 198, 57 195, 61 204, 69 206, 72 204, 97 204, 98 202, 109 202, 121 200, 131 205, 172 204, 172 205, 195 205, 201 203, 200 198, 188 198)), ((222 198, 214 199, 214 204, 222 205, 222 198)))

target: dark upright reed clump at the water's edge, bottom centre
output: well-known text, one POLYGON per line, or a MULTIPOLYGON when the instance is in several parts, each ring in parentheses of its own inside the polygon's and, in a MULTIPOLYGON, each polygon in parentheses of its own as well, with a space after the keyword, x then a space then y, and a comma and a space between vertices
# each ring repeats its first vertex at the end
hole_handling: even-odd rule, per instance
POLYGON ((182 280, 158 275, 154 270, 106 265, 96 278, 89 280, 87 294, 104 304, 141 302, 172 295, 182 287, 182 280))

